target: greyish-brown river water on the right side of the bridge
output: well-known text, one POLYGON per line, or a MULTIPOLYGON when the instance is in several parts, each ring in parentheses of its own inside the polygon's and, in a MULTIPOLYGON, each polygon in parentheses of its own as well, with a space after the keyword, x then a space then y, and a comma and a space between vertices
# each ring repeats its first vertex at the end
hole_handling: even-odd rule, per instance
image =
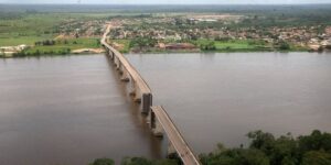
POLYGON ((127 55, 197 153, 276 135, 331 132, 331 54, 127 55))

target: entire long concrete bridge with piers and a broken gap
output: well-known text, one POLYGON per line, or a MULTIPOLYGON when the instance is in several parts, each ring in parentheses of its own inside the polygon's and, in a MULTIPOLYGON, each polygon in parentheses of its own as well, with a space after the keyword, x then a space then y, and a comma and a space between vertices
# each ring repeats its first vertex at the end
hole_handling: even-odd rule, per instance
POLYGON ((152 91, 146 80, 122 54, 108 44, 107 35, 110 29, 111 25, 108 25, 102 38, 106 55, 114 62, 121 75, 121 80, 130 82, 132 88, 130 95, 134 96, 136 102, 141 103, 141 112, 149 118, 153 134, 163 136, 166 133, 170 141, 168 154, 177 153, 184 165, 200 165, 199 158, 194 155, 167 111, 160 106, 152 106, 152 91))

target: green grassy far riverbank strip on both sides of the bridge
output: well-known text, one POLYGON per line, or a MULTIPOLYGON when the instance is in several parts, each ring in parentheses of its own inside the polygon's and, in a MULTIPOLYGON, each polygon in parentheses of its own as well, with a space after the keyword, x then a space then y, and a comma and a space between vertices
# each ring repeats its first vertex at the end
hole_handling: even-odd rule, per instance
MULTIPOLYGON (((288 45, 288 47, 273 47, 257 42, 227 41, 214 42, 215 47, 204 48, 211 41, 196 41, 193 48, 160 48, 154 47, 131 47, 129 40, 115 40, 111 45, 121 53, 139 54, 178 54, 178 53, 259 53, 259 52, 316 52, 308 47, 288 45)), ((193 44, 192 44, 193 45, 193 44)), ((66 38, 35 42, 33 46, 26 46, 20 52, 1 54, 0 58, 26 57, 26 56, 62 56, 77 54, 102 54, 105 50, 99 44, 99 38, 66 38)))

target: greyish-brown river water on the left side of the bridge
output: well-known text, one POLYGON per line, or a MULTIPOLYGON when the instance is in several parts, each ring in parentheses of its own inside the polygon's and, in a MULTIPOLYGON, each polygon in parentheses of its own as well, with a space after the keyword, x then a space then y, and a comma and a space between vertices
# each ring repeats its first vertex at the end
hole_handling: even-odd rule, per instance
POLYGON ((160 157, 105 55, 0 61, 0 164, 160 157))

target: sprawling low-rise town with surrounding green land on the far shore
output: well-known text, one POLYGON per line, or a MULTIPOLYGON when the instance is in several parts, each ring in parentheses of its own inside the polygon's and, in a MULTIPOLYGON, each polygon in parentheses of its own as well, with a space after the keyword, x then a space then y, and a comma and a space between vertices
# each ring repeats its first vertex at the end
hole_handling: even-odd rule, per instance
POLYGON ((10 31, 10 24, 12 30, 22 25, 34 31, 26 34, 25 29, 14 38, 8 38, 11 33, 0 33, 0 56, 102 53, 99 38, 107 24, 111 24, 108 42, 122 53, 324 52, 331 47, 330 18, 321 16, 329 10, 308 16, 299 9, 291 14, 282 8, 264 14, 254 10, 82 15, 31 12, 21 13, 20 24, 0 23, 2 31, 10 31), (38 22, 35 30, 28 22, 46 16, 54 21, 46 25, 38 22))

